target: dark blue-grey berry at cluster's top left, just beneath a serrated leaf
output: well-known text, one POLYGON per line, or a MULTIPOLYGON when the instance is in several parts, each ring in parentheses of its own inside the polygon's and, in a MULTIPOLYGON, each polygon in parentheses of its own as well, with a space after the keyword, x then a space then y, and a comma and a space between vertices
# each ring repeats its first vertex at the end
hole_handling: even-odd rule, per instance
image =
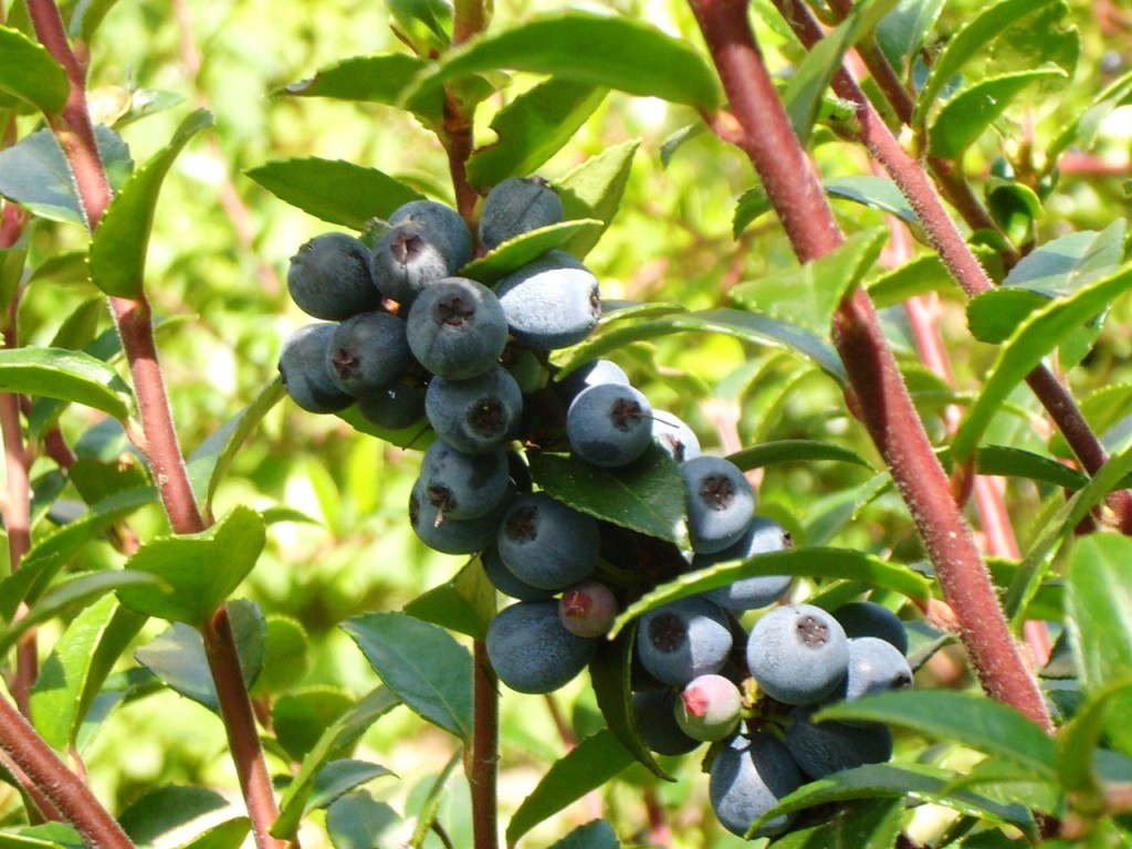
POLYGON ((309 316, 341 321, 377 309, 381 293, 370 274, 370 252, 348 233, 323 233, 291 257, 286 288, 309 316))

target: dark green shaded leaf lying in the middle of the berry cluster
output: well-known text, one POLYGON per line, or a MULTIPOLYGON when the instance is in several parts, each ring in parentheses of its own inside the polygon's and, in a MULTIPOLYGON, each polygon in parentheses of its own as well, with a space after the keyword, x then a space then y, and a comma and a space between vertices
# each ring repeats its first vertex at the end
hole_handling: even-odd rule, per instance
POLYGON ((676 461, 659 445, 617 469, 574 456, 538 454, 531 475, 557 500, 595 518, 687 546, 687 491, 676 461))

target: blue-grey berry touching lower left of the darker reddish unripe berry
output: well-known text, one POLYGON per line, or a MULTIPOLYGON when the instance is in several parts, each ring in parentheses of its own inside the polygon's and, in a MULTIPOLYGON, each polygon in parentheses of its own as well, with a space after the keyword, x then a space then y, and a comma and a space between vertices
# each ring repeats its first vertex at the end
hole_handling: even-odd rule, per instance
POLYGON ((563 627, 557 601, 518 601, 488 626, 491 666, 518 693, 552 693, 569 683, 593 658, 597 644, 563 627))

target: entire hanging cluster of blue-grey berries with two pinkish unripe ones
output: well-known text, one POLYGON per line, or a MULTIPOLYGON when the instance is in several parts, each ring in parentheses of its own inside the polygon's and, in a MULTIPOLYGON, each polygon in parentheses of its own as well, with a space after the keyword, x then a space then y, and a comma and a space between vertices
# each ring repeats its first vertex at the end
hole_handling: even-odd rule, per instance
MULTIPOLYGON (((584 264, 550 250, 492 288, 460 276, 477 242, 491 251, 561 220, 548 183, 513 178, 484 198, 474 238, 458 213, 431 200, 396 209, 372 248, 344 233, 316 237, 292 257, 288 286, 319 320, 292 334, 280 358, 302 409, 357 405, 379 429, 432 437, 410 521, 432 549, 477 555, 515 600, 486 642, 499 679, 522 693, 574 679, 618 611, 655 584, 790 544, 779 524, 755 514, 743 471, 702 454, 694 431, 654 410, 614 362, 554 374, 549 352, 586 338, 600 317, 598 280, 584 264), (606 470, 667 453, 686 491, 691 550, 664 543, 666 567, 642 566, 643 540, 533 486, 524 451, 547 447, 606 470)), ((790 585, 784 575, 743 578, 637 623, 640 738, 659 754, 713 744, 712 804, 739 834, 804 777, 891 755, 886 727, 815 723, 820 705, 911 683, 895 616, 871 602, 833 615, 775 606, 790 585), (739 617, 764 608, 747 634, 739 617)), ((782 817, 761 833, 788 824, 782 817)))

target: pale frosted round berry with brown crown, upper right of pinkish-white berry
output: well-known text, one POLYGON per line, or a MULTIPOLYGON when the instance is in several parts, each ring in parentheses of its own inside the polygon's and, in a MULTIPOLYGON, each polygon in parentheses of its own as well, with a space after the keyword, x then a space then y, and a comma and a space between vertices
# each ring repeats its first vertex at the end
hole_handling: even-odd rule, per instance
POLYGON ((832 615, 786 604, 763 616, 747 638, 747 667, 760 688, 784 704, 832 694, 849 669, 849 640, 832 615))

